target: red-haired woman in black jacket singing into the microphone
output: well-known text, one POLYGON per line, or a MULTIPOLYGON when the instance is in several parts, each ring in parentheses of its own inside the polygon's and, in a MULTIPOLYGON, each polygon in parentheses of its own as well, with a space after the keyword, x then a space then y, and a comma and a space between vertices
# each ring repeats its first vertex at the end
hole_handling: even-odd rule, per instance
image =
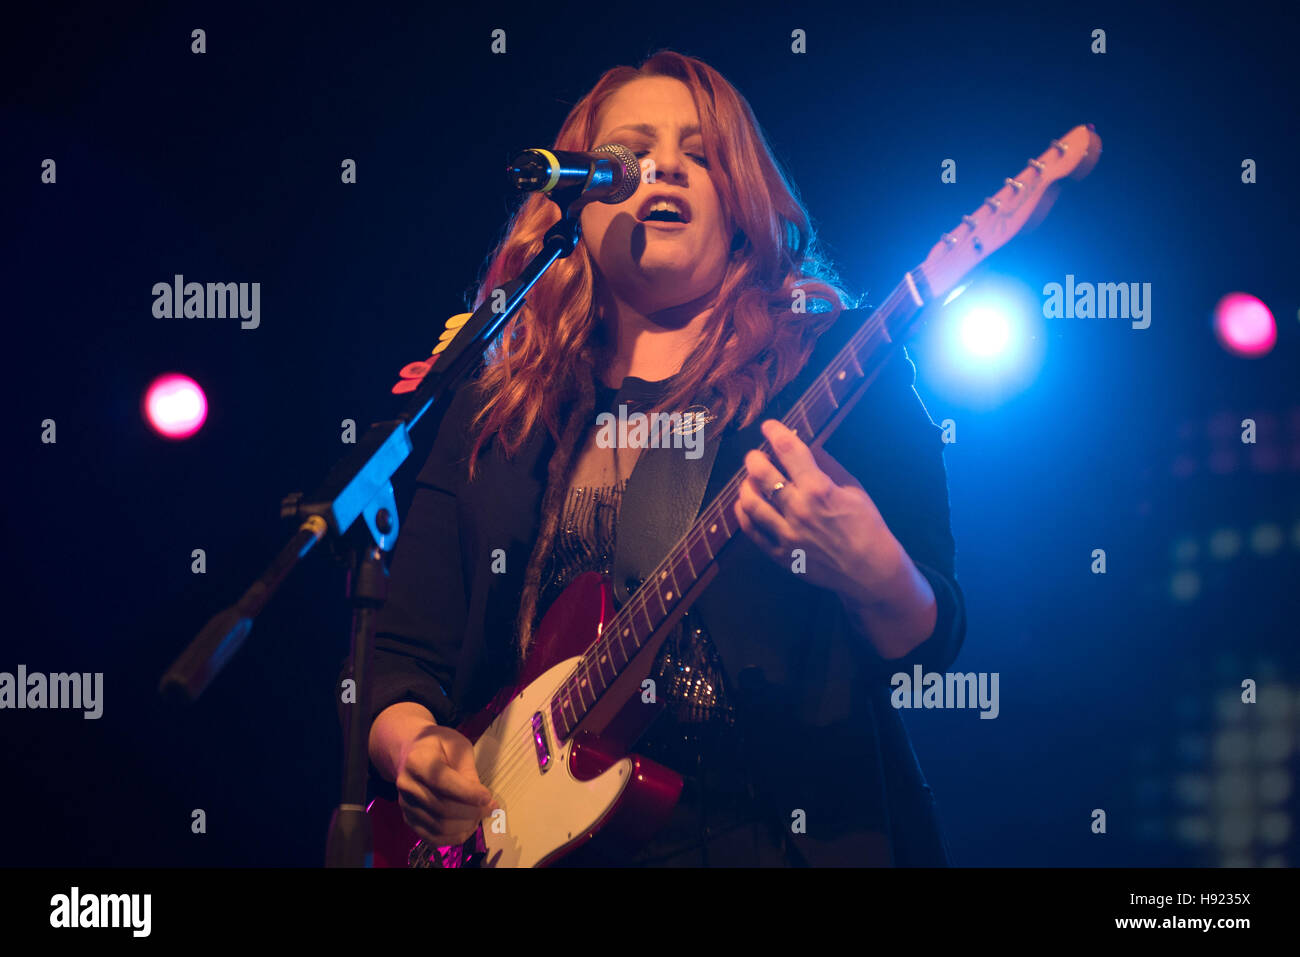
MULTIPOLYGON (((659 52, 601 77, 555 138, 603 143, 641 159, 640 187, 585 207, 577 248, 445 403, 419 473, 376 633, 373 787, 436 846, 489 818, 497 796, 452 726, 514 684, 566 585, 611 570, 642 449, 598 441, 597 416, 705 403, 723 429, 705 502, 744 468, 744 534, 651 670, 664 709, 636 752, 684 778, 681 798, 612 862, 948 863, 890 706, 890 675, 945 671, 966 631, 942 442, 914 368, 896 352, 812 451, 764 410, 866 312, 748 103, 703 62, 659 52)), ((558 217, 536 194, 520 207, 476 306, 558 217)))

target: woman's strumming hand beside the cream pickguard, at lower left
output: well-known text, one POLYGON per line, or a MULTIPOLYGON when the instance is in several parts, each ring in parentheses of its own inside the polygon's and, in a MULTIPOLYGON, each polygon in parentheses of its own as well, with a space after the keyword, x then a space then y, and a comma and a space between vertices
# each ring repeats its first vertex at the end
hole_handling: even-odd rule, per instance
POLYGON ((498 806, 478 780, 469 739, 439 724, 426 726, 403 746, 394 784, 407 826, 436 848, 469 840, 498 806))

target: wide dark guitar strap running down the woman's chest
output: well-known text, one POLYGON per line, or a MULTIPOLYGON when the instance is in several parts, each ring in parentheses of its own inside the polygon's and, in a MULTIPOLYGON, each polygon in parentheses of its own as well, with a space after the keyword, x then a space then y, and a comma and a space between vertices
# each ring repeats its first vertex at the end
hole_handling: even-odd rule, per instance
POLYGON ((722 430, 705 406, 692 406, 682 413, 681 429, 702 429, 702 455, 688 458, 685 437, 681 447, 673 436, 662 436, 658 449, 642 449, 628 476, 619 507, 614 538, 612 585, 620 606, 668 550, 686 533, 705 499, 708 476, 714 471, 722 430), (703 410, 701 413, 699 411, 703 410), (694 415, 693 415, 694 413, 694 415), (664 441, 668 439, 668 441, 664 441))

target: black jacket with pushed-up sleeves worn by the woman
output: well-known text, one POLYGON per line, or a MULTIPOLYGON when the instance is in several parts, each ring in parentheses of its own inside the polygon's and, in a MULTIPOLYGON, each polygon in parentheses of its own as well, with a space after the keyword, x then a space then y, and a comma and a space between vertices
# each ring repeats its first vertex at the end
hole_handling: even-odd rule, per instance
MULTIPOLYGON (((864 319, 863 311, 841 315, 763 417, 780 417, 864 319)), ((714 823, 699 824, 710 828, 714 853, 671 863, 878 863, 875 835, 885 836, 893 863, 948 862, 930 788, 889 701, 890 675, 911 674, 914 664, 946 671, 966 633, 941 430, 913 387, 914 374, 897 351, 826 449, 862 482, 930 581, 939 603, 935 631, 909 655, 884 661, 854 632, 833 593, 779 567, 738 533, 692 616, 712 640, 744 745, 723 755, 728 759, 697 762, 666 840, 690 836, 699 805, 722 809, 732 823, 720 824, 715 815, 714 823), (733 827, 755 817, 759 823, 749 831, 733 827)), ((624 382, 630 391, 646 386, 624 382)), ((393 703, 417 701, 439 724, 454 726, 514 683, 515 619, 555 443, 538 429, 507 460, 489 442, 478 475, 468 481, 474 393, 462 387, 443 403, 438 436, 416 478, 376 627, 372 719, 393 703), (491 570, 498 549, 506 557, 500 575, 491 570)), ((706 503, 762 442, 760 421, 727 430, 706 503)), ((653 737, 654 729, 637 750, 690 775, 680 759, 649 754, 653 737)), ((372 791, 395 798, 373 767, 372 791)))

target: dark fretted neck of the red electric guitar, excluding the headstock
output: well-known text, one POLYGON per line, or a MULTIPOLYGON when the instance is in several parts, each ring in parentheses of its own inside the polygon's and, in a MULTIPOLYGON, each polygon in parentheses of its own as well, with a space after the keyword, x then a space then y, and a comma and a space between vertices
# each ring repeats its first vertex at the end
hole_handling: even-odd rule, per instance
MULTIPOLYGON (((918 267, 904 277, 794 402, 781 419, 785 426, 810 446, 824 442, 871 385, 890 346, 906 338, 911 321, 930 298, 924 269, 918 267)), ((759 449, 772 451, 766 441, 759 449)), ((706 580, 740 528, 734 507, 744 480, 741 469, 705 506, 696 523, 610 620, 555 692, 551 720, 562 740, 577 728, 641 650, 676 623, 703 590, 699 583, 706 580)))

